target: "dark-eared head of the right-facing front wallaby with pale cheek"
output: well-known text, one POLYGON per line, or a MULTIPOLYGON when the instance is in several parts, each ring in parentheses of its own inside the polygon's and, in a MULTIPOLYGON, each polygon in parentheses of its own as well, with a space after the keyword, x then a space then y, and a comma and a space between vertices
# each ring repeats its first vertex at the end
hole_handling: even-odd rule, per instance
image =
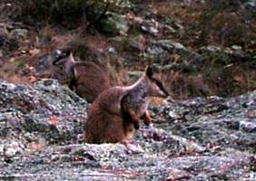
POLYGON ((162 82, 154 77, 153 67, 149 66, 146 68, 145 77, 147 78, 150 85, 150 96, 161 98, 167 98, 169 96, 167 90, 164 89, 162 82))

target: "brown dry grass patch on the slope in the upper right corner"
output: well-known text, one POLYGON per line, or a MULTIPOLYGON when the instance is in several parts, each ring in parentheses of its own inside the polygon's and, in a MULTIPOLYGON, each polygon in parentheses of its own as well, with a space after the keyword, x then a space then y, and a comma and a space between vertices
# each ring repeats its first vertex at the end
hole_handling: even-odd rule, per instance
POLYGON ((207 44, 250 46, 251 40, 256 39, 255 20, 246 21, 241 10, 218 9, 218 2, 216 4, 212 8, 208 4, 175 5, 164 2, 155 4, 155 8, 157 14, 172 15, 183 22, 186 33, 180 38, 185 45, 196 48, 207 44))

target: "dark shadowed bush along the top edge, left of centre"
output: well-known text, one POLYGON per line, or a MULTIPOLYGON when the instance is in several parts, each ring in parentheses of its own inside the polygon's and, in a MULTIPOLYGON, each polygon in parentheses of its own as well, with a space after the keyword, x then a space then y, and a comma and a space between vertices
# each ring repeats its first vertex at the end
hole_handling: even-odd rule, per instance
POLYGON ((118 0, 20 0, 18 18, 26 23, 94 24, 106 11, 120 11, 118 0))

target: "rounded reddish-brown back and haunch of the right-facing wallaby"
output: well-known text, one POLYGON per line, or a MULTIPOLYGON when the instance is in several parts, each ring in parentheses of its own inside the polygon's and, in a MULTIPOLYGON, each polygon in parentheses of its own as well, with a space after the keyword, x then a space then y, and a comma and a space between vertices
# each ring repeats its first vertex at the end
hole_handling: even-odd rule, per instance
POLYGON ((94 100, 87 122, 84 124, 84 138, 87 143, 116 143, 133 138, 133 122, 128 119, 123 121, 120 107, 125 94, 126 90, 123 88, 113 87, 104 90, 94 100))

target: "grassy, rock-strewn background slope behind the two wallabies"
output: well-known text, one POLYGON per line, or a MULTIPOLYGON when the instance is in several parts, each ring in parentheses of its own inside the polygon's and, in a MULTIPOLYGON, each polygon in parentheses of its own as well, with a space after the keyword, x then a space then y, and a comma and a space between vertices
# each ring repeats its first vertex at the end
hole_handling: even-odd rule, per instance
MULTIPOLYGON (((81 60, 107 67, 120 85, 130 83, 131 72, 155 63, 170 92, 182 99, 233 96, 256 88, 255 10, 246 8, 245 1, 3 1, 0 10, 2 4, 5 13, 6 7, 15 8, 8 17, 22 22, 6 26, 9 34, 1 47, 14 60, 10 64, 19 65, 20 57, 30 60, 13 66, 20 67, 19 73, 24 63, 34 66, 34 60, 68 47, 81 60)), ((6 64, 2 70, 8 71, 6 64)))

